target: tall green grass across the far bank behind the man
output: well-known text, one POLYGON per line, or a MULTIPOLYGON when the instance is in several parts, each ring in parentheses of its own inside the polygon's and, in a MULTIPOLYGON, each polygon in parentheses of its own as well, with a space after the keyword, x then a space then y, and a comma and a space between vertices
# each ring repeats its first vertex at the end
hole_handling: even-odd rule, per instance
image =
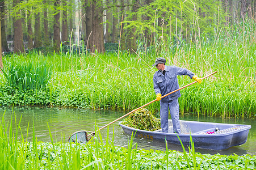
MULTIPOLYGON (((153 74, 157 69, 151 65, 157 57, 165 57, 166 65, 184 67, 201 77, 218 71, 202 84, 181 91, 181 114, 255 118, 256 35, 252 31, 255 24, 234 27, 234 31, 216 32, 212 41, 200 37, 195 42, 181 40, 175 44, 171 38, 161 39, 150 52, 137 50, 136 54, 29 53, 3 59, 5 67, 17 61, 21 65, 25 61, 43 61, 52 66, 52 78, 45 90, 46 104, 131 111, 156 99, 153 74)), ((187 76, 178 79, 180 87, 193 81, 187 76)), ((2 86, 5 81, 2 79, 2 86)), ((19 91, 15 95, 19 100, 24 96, 19 91)), ((0 92, 0 105, 14 104, 6 96, 1 97, 0 92)), ((147 109, 156 113, 159 107, 159 102, 155 102, 147 109)))

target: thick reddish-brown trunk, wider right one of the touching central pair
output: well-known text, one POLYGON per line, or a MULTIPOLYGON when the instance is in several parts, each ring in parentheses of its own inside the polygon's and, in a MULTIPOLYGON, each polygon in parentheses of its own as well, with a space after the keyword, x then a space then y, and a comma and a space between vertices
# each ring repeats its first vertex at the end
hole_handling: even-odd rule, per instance
POLYGON ((91 52, 95 53, 96 50, 98 53, 104 53, 104 39, 103 39, 103 9, 102 9, 102 0, 93 0, 91 14, 93 18, 92 24, 92 34, 91 34, 91 52))

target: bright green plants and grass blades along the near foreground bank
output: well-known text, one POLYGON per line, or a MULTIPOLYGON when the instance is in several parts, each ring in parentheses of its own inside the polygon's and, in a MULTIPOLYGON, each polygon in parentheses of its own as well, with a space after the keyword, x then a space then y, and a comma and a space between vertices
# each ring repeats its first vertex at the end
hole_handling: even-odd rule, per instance
MULTIPOLYGON (((128 140, 127 148, 114 146, 114 133, 105 142, 100 133, 87 143, 37 142, 35 130, 31 142, 20 135, 20 122, 0 121, 0 169, 255 169, 256 157, 250 155, 209 155, 190 152, 137 150, 128 140), (12 131, 12 129, 15 129, 12 131), (18 139, 18 135, 21 137, 18 139)), ((49 127, 49 126, 48 126, 49 127)), ((108 133, 109 134, 109 131, 108 133)), ((65 139, 65 136, 63 136, 65 139)), ((183 147, 184 150, 184 147, 183 147)))

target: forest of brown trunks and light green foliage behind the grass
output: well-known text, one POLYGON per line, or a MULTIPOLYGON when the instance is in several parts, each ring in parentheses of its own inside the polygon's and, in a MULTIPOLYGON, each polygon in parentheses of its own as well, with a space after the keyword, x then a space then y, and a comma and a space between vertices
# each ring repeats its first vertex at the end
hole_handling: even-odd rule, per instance
POLYGON ((64 43, 104 53, 104 42, 120 42, 121 49, 132 52, 136 40, 145 48, 169 36, 214 40, 216 32, 255 19, 256 1, 1 0, 0 8, 4 52, 41 46, 59 51, 64 43))

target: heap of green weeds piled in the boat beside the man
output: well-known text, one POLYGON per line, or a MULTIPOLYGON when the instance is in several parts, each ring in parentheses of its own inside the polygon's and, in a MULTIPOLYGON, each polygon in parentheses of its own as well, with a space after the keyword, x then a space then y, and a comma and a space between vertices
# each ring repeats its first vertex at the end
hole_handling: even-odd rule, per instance
POLYGON ((154 131, 161 129, 160 119, 154 117, 153 114, 145 108, 141 108, 130 114, 129 117, 125 118, 122 124, 141 130, 154 131))

